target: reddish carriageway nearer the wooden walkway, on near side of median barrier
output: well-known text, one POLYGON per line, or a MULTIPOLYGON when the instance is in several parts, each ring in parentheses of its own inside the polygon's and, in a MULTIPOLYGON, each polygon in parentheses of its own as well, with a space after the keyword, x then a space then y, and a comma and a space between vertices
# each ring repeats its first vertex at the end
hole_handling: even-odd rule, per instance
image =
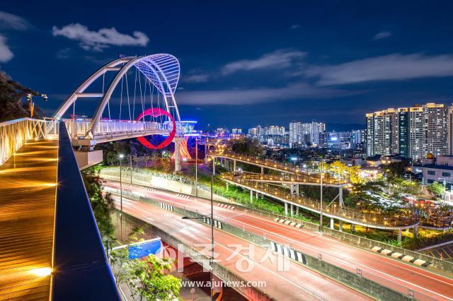
MULTIPOLYGON (((114 197, 115 206, 119 207, 119 198, 114 197)), ((200 252, 209 254, 209 251, 200 247, 200 244, 210 244, 210 227, 195 222, 194 220, 183 220, 181 216, 164 209, 151 206, 147 203, 131 201, 123 198, 123 211, 136 218, 151 223, 170 233, 179 240, 194 246, 200 252)), ((371 298, 337 283, 330 278, 320 275, 309 268, 287 261, 289 271, 278 271, 277 260, 263 261, 266 249, 253 245, 253 269, 249 272, 239 271, 236 268, 236 261, 248 258, 248 246, 245 240, 241 240, 225 232, 214 231, 215 247, 214 251, 219 254, 216 260, 229 268, 234 273, 239 274, 247 281, 265 281, 264 289, 267 293, 277 298, 277 300, 371 300, 371 298), (236 245, 241 246, 241 250, 236 249, 236 245), (234 256, 239 251, 239 255, 234 256), (231 256, 231 259, 229 257, 231 256), (228 260, 229 259, 229 260, 228 260), (263 262, 260 262, 263 261, 263 262)), ((243 262, 246 267, 246 263, 243 262)))

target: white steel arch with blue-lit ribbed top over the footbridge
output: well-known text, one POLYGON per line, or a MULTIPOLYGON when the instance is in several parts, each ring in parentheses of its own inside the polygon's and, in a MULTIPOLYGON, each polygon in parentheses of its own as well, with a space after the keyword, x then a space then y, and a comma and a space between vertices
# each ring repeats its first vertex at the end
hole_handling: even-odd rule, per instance
POLYGON ((93 138, 93 129, 96 129, 96 124, 98 124, 101 119, 105 106, 110 101, 113 91, 120 82, 122 76, 124 76, 125 73, 132 68, 132 66, 139 69, 139 71, 143 73, 144 76, 146 76, 164 96, 166 111, 171 114, 171 109, 173 109, 176 112, 175 119, 177 124, 177 134, 182 134, 180 114, 174 97, 180 76, 180 65, 178 59, 173 57, 171 54, 151 54, 144 57, 122 57, 120 59, 116 59, 115 61, 111 61, 101 69, 98 69, 98 71, 87 78, 86 81, 79 86, 79 88, 74 90, 69 98, 59 107, 54 117, 61 118, 78 98, 102 98, 93 114, 93 118, 91 119, 91 123, 89 124, 88 130, 85 134, 86 138, 93 138), (105 93, 84 93, 86 88, 88 88, 94 81, 96 81, 96 79, 100 78, 108 71, 117 71, 117 73, 105 93))

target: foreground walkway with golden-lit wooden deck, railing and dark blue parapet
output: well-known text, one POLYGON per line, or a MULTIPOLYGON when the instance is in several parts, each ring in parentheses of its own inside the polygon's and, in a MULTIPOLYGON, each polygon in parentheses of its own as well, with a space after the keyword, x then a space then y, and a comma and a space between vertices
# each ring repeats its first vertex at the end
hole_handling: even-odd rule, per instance
POLYGON ((64 123, 0 123, 0 182, 0 300, 120 300, 64 123))

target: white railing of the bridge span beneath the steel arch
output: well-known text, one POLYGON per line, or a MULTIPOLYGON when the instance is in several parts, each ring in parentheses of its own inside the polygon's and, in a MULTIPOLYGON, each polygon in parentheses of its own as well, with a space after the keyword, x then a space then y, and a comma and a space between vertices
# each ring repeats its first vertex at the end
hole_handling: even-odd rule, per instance
MULTIPOLYGON (((64 119, 64 123, 69 131, 69 136, 72 138, 84 137, 88 131, 88 126, 91 119, 64 119)), ((164 131, 170 132, 173 129, 173 124, 159 122, 137 122, 134 120, 114 120, 114 119, 101 119, 93 134, 95 135, 109 135, 116 133, 127 132, 142 132, 142 131, 164 131)))

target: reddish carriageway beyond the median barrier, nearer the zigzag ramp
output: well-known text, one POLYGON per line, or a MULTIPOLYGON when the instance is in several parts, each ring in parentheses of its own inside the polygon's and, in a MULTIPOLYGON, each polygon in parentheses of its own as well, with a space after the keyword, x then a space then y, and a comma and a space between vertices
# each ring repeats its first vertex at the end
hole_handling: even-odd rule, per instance
MULTIPOLYGON (((111 187, 119 186, 116 182, 106 182, 105 184, 111 187)), ((134 191, 166 203, 174 203, 179 207, 185 206, 191 211, 210 212, 210 203, 205 199, 195 199, 195 197, 183 199, 175 194, 148 191, 142 187, 134 187, 134 191)), ((257 235, 265 235, 275 242, 289 244, 293 249, 298 249, 306 254, 317 257, 321 253, 324 261, 354 273, 356 268, 360 268, 362 276, 401 293, 407 294, 408 288, 411 288, 415 292, 414 297, 419 300, 453 299, 453 280, 423 268, 353 247, 327 235, 320 236, 319 233, 275 223, 273 220, 255 216, 253 213, 244 214, 243 211, 234 211, 219 206, 214 206, 214 213, 217 218, 226 220, 231 225, 244 228, 257 235)))

